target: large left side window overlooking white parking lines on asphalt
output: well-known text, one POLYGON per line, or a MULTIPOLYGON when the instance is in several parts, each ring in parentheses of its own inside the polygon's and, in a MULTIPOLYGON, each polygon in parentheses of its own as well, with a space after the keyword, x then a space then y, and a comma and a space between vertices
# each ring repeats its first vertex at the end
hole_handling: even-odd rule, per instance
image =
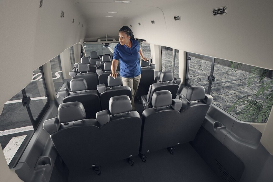
POLYGON ((28 86, 4 104, 0 115, 0 143, 9 168, 14 167, 49 107, 40 69, 33 71, 28 86), (30 102, 27 96, 30 97, 30 102), (26 98, 27 97, 27 98, 26 98), (22 99, 25 99, 25 106, 22 99))

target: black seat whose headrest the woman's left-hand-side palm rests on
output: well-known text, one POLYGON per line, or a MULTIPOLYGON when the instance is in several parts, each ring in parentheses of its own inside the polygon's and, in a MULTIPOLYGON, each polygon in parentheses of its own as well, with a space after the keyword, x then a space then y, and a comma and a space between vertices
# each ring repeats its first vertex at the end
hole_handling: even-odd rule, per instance
POLYGON ((105 84, 99 84, 97 90, 100 93, 100 106, 102 110, 109 110, 109 100, 113 96, 126 95, 131 97, 132 91, 129 86, 123 86, 121 76, 118 75, 116 79, 113 79, 110 75, 108 76, 108 85, 106 88, 105 84))

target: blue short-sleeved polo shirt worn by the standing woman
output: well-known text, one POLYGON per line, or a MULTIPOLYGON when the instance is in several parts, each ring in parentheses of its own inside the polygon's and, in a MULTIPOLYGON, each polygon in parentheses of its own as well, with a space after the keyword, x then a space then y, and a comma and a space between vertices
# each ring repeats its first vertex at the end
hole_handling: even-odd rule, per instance
POLYGON ((131 40, 132 47, 118 43, 115 46, 113 59, 120 60, 120 76, 125 78, 134 78, 141 73, 139 63, 139 43, 137 40, 131 40))

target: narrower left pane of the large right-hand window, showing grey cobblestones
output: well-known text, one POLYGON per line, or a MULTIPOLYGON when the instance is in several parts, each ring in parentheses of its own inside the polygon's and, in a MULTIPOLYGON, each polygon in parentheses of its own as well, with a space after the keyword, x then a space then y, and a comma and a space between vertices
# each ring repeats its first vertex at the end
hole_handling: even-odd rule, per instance
POLYGON ((211 60, 196 55, 190 55, 188 84, 190 86, 203 86, 207 93, 209 80, 207 79, 211 73, 211 60))

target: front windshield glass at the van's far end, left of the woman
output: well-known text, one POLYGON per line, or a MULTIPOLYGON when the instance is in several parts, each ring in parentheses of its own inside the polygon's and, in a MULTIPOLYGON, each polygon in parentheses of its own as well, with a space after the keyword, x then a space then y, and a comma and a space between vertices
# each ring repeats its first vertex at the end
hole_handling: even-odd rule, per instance
POLYGON ((86 56, 90 56, 91 51, 96 51, 98 55, 111 54, 113 55, 114 47, 117 43, 110 43, 109 47, 104 47, 102 43, 86 43, 83 45, 86 56))

